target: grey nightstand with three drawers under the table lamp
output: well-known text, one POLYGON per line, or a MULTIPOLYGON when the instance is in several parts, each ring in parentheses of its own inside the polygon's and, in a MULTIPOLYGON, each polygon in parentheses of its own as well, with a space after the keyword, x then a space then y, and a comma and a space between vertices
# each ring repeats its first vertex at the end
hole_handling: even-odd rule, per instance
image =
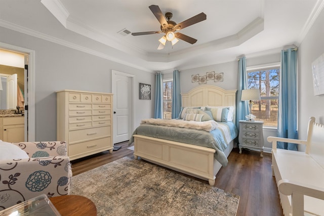
POLYGON ((242 148, 261 151, 263 157, 263 121, 239 121, 238 148, 242 153, 242 148))

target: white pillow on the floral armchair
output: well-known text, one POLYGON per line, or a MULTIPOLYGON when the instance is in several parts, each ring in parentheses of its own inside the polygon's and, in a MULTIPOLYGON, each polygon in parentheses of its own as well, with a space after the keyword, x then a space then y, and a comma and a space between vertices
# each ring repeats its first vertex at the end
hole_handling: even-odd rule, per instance
POLYGON ((0 140, 0 160, 29 158, 27 153, 12 143, 0 140))

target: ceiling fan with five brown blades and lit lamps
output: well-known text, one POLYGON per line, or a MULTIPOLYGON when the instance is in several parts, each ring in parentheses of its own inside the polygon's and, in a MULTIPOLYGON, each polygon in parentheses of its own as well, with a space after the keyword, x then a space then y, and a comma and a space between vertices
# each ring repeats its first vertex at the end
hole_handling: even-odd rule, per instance
POLYGON ((159 39, 160 45, 157 48, 158 50, 163 49, 164 46, 166 45, 167 41, 171 41, 172 45, 175 45, 179 41, 177 38, 184 40, 184 41, 188 42, 189 44, 194 44, 195 42, 197 42, 197 39, 189 37, 189 36, 182 34, 180 32, 175 32, 175 31, 181 30, 185 27, 188 27, 190 25, 196 24, 198 22, 201 22, 201 21, 204 21, 207 19, 206 14, 200 13, 200 14, 197 14, 196 16, 193 16, 193 17, 177 24, 175 21, 171 20, 171 18, 173 16, 172 13, 167 12, 166 17, 165 17, 165 16, 163 16, 163 13, 161 12, 160 8, 157 5, 151 5, 148 8, 152 11, 154 16, 158 20, 158 22, 161 24, 161 26, 160 26, 161 30, 160 31, 134 32, 134 33, 132 33, 132 35, 138 36, 138 35, 146 35, 146 34, 165 33, 166 35, 159 39))

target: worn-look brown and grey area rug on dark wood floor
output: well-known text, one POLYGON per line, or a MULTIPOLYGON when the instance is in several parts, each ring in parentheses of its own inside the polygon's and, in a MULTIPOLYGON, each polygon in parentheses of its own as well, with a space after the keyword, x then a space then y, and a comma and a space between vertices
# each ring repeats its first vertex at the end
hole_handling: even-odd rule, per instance
POLYGON ((235 215, 239 196, 142 160, 124 157, 73 176, 71 194, 106 215, 235 215))

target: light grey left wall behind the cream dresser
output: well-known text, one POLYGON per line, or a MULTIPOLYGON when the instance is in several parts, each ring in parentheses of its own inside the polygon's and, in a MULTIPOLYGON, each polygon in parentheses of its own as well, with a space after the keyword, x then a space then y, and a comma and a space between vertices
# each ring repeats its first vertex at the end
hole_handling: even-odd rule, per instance
POLYGON ((135 124, 154 116, 154 74, 64 47, 47 40, 0 27, 0 41, 35 51, 35 140, 56 140, 56 91, 82 90, 111 93, 111 70, 135 75, 152 85, 151 100, 135 98, 135 124))

